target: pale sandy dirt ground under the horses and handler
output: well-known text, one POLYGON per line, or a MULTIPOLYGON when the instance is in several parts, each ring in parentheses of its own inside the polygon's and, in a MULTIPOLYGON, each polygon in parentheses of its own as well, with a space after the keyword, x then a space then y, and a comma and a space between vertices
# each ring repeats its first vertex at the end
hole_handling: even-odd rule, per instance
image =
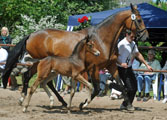
MULTIPOLYGON (((68 102, 69 95, 61 94, 68 102)), ((55 98, 53 109, 49 109, 49 98, 45 92, 37 90, 33 95, 28 112, 18 105, 20 91, 0 88, 0 120, 167 120, 167 104, 161 101, 134 101, 135 111, 121 111, 121 100, 111 100, 109 96, 96 97, 83 111, 78 109, 87 98, 87 92, 76 93, 72 102, 73 110, 68 113, 55 98)))

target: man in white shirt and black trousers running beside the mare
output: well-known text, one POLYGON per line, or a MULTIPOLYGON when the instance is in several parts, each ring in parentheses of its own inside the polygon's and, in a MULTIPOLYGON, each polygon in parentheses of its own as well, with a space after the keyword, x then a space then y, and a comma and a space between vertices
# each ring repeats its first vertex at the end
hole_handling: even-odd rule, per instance
POLYGON ((126 37, 118 43, 118 72, 119 76, 124 82, 125 89, 127 90, 127 97, 129 101, 123 101, 120 109, 135 110, 132 103, 137 91, 137 80, 132 70, 132 59, 137 57, 142 63, 146 65, 148 70, 152 71, 144 57, 139 52, 137 45, 134 42, 135 35, 130 30, 126 30, 126 37))

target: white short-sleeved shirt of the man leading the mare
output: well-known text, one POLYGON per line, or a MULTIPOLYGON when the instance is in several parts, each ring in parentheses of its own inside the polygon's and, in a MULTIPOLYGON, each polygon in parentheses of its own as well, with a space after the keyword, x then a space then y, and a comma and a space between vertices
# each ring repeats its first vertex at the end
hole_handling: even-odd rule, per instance
MULTIPOLYGON (((135 53, 139 52, 139 50, 138 50, 134 41, 132 41, 130 43, 130 42, 128 42, 128 40, 125 37, 123 40, 121 40, 118 43, 118 52, 119 52, 118 62, 127 63, 127 58, 128 58, 129 59, 128 67, 131 67, 132 66, 131 61, 132 61, 132 58, 133 58, 132 56, 135 53), (132 49, 133 49, 133 51, 132 51, 132 49)), ((117 65, 120 66, 119 64, 117 64, 117 65)))

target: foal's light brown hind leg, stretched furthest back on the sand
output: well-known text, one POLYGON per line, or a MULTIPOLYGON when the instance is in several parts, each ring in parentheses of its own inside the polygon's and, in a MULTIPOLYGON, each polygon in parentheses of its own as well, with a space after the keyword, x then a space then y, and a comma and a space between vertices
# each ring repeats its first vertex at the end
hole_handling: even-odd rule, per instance
POLYGON ((26 98, 25 106, 23 108, 23 112, 27 111, 27 108, 29 106, 31 97, 32 97, 33 93, 36 91, 36 89, 37 89, 37 87, 38 87, 39 84, 40 84, 40 80, 37 78, 37 80, 35 81, 35 83, 30 88, 28 97, 26 98))

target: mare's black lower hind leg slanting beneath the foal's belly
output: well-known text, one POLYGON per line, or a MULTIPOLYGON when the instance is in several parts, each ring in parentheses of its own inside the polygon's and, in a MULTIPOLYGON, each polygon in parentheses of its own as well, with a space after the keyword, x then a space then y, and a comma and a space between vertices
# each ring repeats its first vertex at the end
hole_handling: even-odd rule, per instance
POLYGON ((64 101, 64 99, 60 96, 60 94, 56 91, 55 87, 53 86, 52 81, 49 81, 47 83, 47 85, 49 86, 49 88, 54 92, 54 94, 56 95, 56 97, 58 98, 58 100, 62 103, 62 105, 64 107, 67 107, 67 103, 64 101))

